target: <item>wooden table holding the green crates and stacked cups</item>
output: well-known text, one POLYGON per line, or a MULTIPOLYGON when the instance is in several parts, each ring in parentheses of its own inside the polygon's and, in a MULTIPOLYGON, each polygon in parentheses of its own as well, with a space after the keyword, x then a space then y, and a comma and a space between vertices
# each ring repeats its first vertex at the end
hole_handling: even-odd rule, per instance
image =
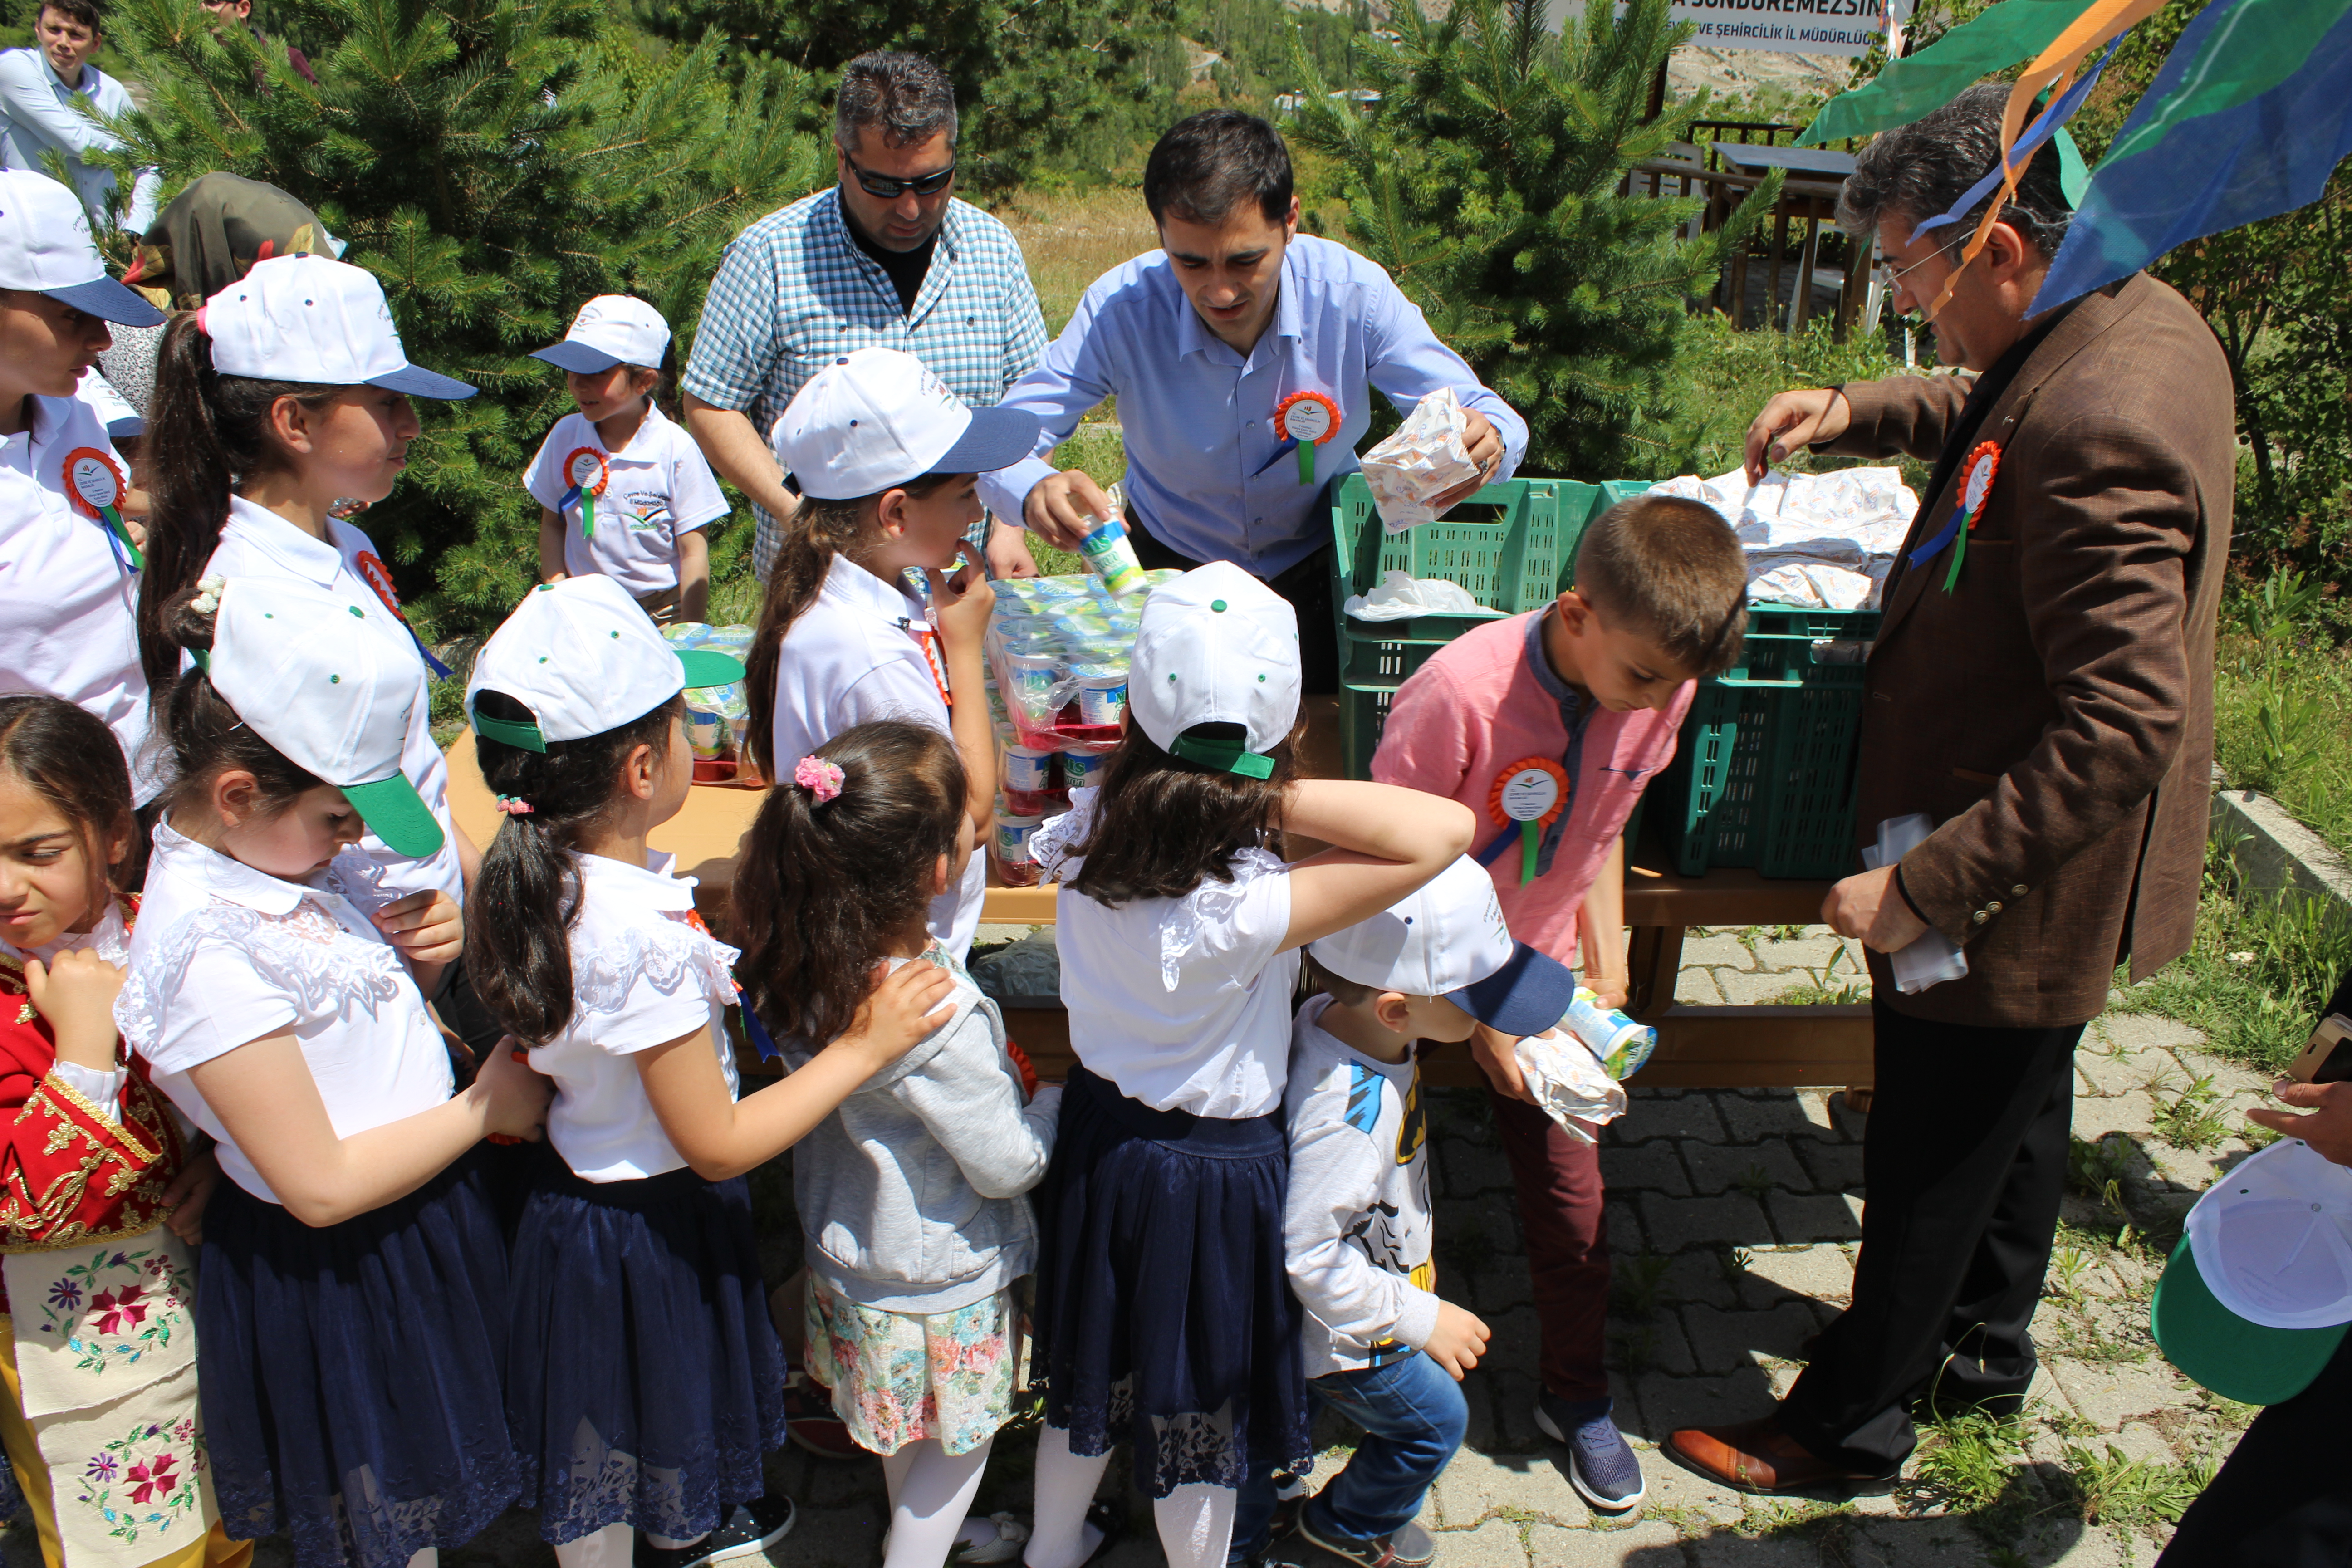
MULTIPOLYGON (((1301 766, 1310 778, 1341 776, 1338 698, 1305 701, 1308 736, 1301 766)), ((727 891, 743 832, 760 811, 762 790, 696 785, 687 806, 654 830, 654 849, 677 856, 677 870, 696 877, 694 903, 720 933, 727 931, 727 891)), ((473 731, 449 748, 449 816, 489 844, 499 813, 473 759, 473 731)), ((1312 846, 1291 846, 1312 849, 1312 846)), ((1663 1088, 1788 1088, 1870 1084, 1870 1006, 1682 1006, 1675 976, 1689 926, 1804 926, 1820 919, 1828 882, 1766 882, 1755 872, 1722 870, 1682 877, 1665 856, 1642 844, 1625 875, 1625 924, 1632 929, 1630 1011, 1658 1030, 1658 1051, 1639 1081, 1663 1088)), ((1054 889, 995 886, 990 870, 985 924, 1054 924, 1054 889)), ((1037 1070, 1058 1079, 1075 1060, 1070 1016, 1058 1006, 1007 1009, 1007 1032, 1021 1041, 1037 1070)), ((1425 1058, 1428 1081, 1439 1088, 1479 1086, 1470 1053, 1446 1046, 1425 1058)))

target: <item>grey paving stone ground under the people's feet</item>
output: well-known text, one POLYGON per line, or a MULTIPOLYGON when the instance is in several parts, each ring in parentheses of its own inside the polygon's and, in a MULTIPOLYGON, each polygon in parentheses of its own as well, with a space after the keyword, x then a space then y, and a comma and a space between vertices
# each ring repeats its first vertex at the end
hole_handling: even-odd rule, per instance
MULTIPOLYGON (((1769 999, 1837 990, 1853 954, 1823 929, 1693 933, 1677 994, 1769 999)), ((1446 1568, 2133 1568, 2152 1563, 2166 1528, 2150 1497, 2194 1495, 2197 1465, 2218 1462, 2251 1410, 2204 1394, 2157 1354, 2147 1298, 2180 1215, 2218 1171, 2249 1152, 2244 1110, 2265 1081, 2206 1056, 2183 1025, 2110 1011, 2077 1058, 2077 1150, 2086 1182, 2070 1192, 2051 1284, 2034 1316, 2044 1371, 2006 1446, 1931 1439, 1905 1474, 1863 1495, 1757 1500, 1708 1486, 1656 1448, 1682 1425, 1745 1420, 1797 1373, 1802 1342, 1846 1302, 1863 1199, 1863 1117, 1835 1088, 1635 1088, 1606 1128, 1602 1173, 1616 1260, 1611 1385, 1616 1418, 1642 1455, 1649 1497, 1628 1516, 1588 1509, 1566 1481, 1566 1453, 1534 1427, 1536 1316, 1510 1197, 1479 1091, 1430 1095, 1439 1291, 1494 1331, 1489 1363, 1465 1394, 1470 1439, 1430 1502, 1446 1568), (2161 1128, 2161 1131, 2159 1131, 2161 1128), (2131 1220, 2126 1227, 2126 1218, 2131 1220), (2152 1241, 2150 1241, 2152 1237, 2152 1241), (1976 1490, 1964 1460, 1990 1453, 1976 1490)), ((797 1265, 783 1166, 762 1173, 771 1222, 764 1265, 797 1265), (776 1222, 781 1220, 781 1222, 776 1222)), ((1322 1474, 1345 1460, 1350 1429, 1329 1418, 1322 1474)), ((875 1462, 769 1460, 800 1523, 771 1552, 779 1568, 880 1563, 884 1519, 875 1462)), ((1105 1493, 1127 1490, 1115 1462, 1105 1493)), ((1030 1436, 1007 1432, 981 1490, 983 1509, 1028 1512, 1030 1436)), ((1103 1559, 1143 1568, 1162 1554, 1150 1507, 1129 1495, 1129 1530, 1103 1559)), ((466 1568, 543 1568, 536 1519, 508 1514, 461 1552, 466 1568)), ((7 1568, 35 1568, 28 1528, 9 1530, 7 1568)), ((289 1568, 282 1540, 259 1568, 289 1568)))

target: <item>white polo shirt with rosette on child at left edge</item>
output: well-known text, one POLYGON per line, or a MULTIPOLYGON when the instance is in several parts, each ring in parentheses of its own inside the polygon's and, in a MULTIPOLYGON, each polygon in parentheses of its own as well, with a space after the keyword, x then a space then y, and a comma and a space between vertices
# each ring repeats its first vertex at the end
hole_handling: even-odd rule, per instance
POLYGON ((139 778, 148 729, 139 672, 139 574, 113 531, 66 501, 66 456, 94 447, 129 468, 78 397, 28 397, 31 430, 0 442, 0 691, 61 696, 106 719, 139 778))

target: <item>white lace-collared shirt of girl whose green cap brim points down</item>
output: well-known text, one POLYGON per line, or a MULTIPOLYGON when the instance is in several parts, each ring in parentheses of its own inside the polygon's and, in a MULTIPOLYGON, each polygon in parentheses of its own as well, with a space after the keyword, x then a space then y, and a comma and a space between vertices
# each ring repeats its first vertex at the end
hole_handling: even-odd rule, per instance
POLYGON ((282 882, 155 825, 115 1027, 160 1088, 221 1140, 221 1168, 270 1204, 188 1070, 294 1034, 336 1138, 433 1110, 454 1091, 449 1048, 409 966, 343 896, 336 860, 282 882))

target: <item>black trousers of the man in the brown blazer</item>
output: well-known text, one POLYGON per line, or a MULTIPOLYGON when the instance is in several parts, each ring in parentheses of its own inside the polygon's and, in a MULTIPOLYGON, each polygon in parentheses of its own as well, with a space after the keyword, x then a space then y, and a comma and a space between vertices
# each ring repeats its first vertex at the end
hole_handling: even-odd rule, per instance
POLYGON ((1813 1455, 1884 1474, 1917 1446, 1910 1403, 2016 1410, 2065 1194, 2074 1041, 2063 1030, 1924 1023, 1872 1004, 1853 1305, 1780 1406, 1813 1455))

